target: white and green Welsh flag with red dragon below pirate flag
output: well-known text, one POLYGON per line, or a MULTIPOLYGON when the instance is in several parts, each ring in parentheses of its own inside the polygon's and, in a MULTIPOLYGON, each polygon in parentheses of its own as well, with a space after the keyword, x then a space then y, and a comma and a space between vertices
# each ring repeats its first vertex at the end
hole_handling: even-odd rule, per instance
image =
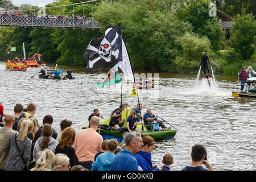
POLYGON ((98 82, 97 85, 99 88, 103 88, 106 85, 112 85, 117 84, 118 82, 122 81, 122 78, 118 75, 118 67, 121 64, 121 62, 114 65, 112 69, 108 72, 107 77, 103 82, 98 82))

